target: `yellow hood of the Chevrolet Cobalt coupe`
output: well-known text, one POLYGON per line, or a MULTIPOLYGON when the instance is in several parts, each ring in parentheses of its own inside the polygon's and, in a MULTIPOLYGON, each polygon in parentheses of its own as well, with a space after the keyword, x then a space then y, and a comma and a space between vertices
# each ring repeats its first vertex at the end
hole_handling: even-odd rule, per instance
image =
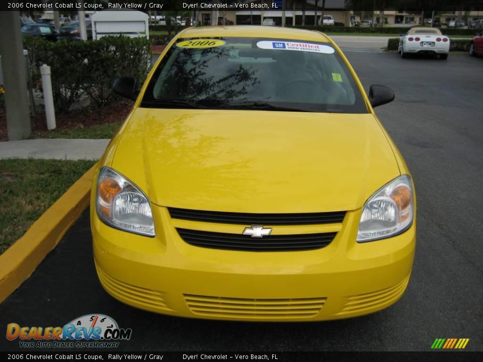
POLYGON ((399 175, 371 114, 136 109, 112 167, 153 204, 296 213, 355 210, 399 175))

